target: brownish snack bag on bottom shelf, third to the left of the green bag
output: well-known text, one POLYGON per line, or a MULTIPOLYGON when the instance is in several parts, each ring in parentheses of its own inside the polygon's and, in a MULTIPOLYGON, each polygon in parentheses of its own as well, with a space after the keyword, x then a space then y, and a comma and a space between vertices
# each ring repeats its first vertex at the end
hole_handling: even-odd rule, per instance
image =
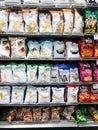
POLYGON ((41 121, 49 121, 49 119, 50 119, 50 108, 49 107, 43 108, 41 121))

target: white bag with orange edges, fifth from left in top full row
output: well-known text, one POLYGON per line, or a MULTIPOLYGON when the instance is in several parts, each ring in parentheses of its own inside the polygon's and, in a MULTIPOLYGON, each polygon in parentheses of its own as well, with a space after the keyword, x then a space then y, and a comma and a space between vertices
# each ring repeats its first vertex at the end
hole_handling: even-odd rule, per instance
POLYGON ((52 15, 52 30, 53 32, 64 32, 63 12, 62 11, 50 11, 52 15))

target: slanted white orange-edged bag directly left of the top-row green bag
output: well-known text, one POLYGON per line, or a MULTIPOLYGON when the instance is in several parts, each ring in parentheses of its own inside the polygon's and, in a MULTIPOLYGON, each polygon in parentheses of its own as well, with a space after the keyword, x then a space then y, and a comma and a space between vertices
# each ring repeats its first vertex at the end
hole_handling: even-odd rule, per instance
POLYGON ((77 9, 74 9, 74 20, 72 33, 83 33, 83 17, 77 9))

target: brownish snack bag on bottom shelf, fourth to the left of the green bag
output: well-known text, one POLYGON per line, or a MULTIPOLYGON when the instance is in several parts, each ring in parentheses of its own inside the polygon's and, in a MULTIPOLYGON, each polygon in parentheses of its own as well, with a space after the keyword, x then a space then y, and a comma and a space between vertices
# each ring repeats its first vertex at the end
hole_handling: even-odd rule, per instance
POLYGON ((33 108, 33 120, 34 120, 34 122, 41 121, 41 115, 42 115, 41 107, 33 108))

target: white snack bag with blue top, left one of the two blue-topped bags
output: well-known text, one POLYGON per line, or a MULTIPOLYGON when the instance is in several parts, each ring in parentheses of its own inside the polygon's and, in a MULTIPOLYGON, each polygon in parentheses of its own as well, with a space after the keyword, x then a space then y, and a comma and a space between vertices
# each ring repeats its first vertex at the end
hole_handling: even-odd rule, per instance
POLYGON ((58 66, 58 71, 59 71, 59 82, 60 83, 69 83, 70 66, 67 64, 60 64, 58 66))

